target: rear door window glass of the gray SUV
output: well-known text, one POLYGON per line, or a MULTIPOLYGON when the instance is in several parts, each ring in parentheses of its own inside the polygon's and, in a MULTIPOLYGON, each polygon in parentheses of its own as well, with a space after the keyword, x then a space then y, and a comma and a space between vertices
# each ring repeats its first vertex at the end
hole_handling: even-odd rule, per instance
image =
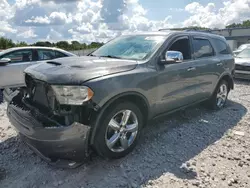
POLYGON ((207 39, 194 39, 194 56, 196 58, 210 57, 214 55, 214 50, 209 40, 207 39))

